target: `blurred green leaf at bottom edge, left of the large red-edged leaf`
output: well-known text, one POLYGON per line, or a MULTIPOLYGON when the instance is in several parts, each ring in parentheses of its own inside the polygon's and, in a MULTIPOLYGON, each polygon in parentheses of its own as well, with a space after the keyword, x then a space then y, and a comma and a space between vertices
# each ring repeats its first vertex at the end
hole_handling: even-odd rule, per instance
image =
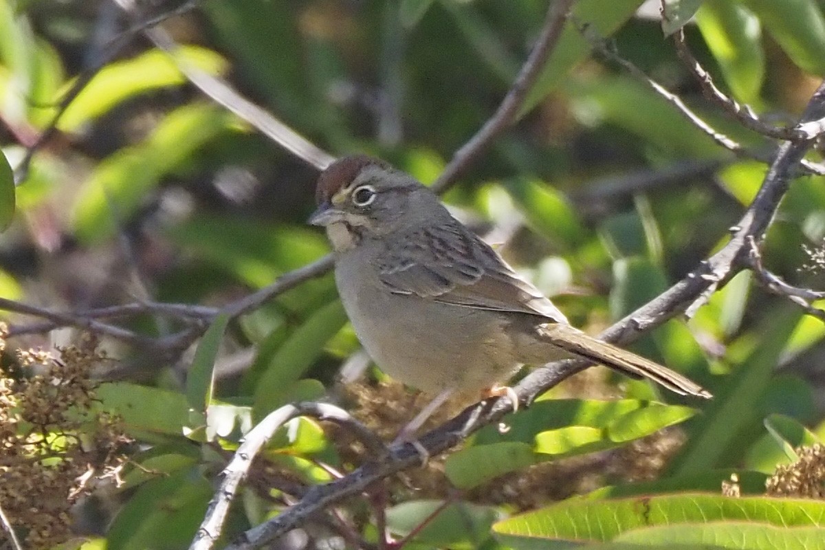
POLYGON ((469 502, 455 502, 443 510, 441 501, 408 501, 387 510, 389 529, 398 535, 406 535, 423 522, 427 525, 413 537, 413 542, 429 544, 436 548, 479 548, 490 536, 490 526, 502 517, 493 506, 481 506, 469 502), (438 511, 435 517, 431 517, 438 511))

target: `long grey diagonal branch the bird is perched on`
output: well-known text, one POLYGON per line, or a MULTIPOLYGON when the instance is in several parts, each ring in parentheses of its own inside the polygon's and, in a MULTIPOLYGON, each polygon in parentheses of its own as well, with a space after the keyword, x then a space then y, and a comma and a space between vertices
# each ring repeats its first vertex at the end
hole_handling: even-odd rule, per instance
MULTIPOLYGON (((805 110, 803 120, 816 120, 825 114, 825 83, 805 110)), ((762 181, 756 198, 740 219, 730 242, 719 252, 703 261, 700 266, 674 284, 657 298, 637 309, 634 313, 616 322, 602 332, 600 337, 617 344, 626 344, 653 330, 662 323, 689 311, 696 303, 701 303, 709 292, 729 280, 737 270, 746 266, 748 243, 753 239, 761 242, 771 224, 782 197, 790 186, 790 179, 804 153, 813 144, 812 140, 787 142, 780 147, 771 169, 762 181)), ((514 388, 520 402, 529 405, 532 400, 564 378, 587 368, 580 360, 550 363, 528 374, 514 388)), ((459 444, 469 434, 483 425, 498 421, 512 409, 509 400, 500 399, 491 404, 481 402, 465 409, 459 416, 445 425, 423 435, 419 442, 431 455, 440 454, 459 444)), ((312 487, 296 505, 249 529, 228 548, 231 550, 253 550, 262 548, 276 538, 295 529, 307 518, 324 510, 348 496, 354 496, 375 482, 389 477, 419 463, 419 455, 411 444, 395 444, 389 457, 376 463, 367 463, 342 479, 312 487)))

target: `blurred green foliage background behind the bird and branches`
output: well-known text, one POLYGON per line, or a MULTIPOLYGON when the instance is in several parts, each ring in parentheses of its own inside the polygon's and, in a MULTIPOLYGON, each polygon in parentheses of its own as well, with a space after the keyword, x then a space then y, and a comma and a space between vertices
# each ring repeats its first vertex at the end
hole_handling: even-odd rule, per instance
MULTIPOLYGON (((143 7, 167 12, 176 3, 143 7)), ((825 2, 671 3, 682 21, 698 8, 686 41, 724 92, 766 122, 794 124, 825 74, 825 2)), ((16 187, 16 211, 0 234, 0 297, 70 312, 141 301, 219 307, 328 252, 323 233, 304 225, 314 209, 317 170, 210 101, 180 63, 224 78, 335 156, 371 153, 430 183, 511 87, 547 6, 207 0, 163 23, 181 45, 174 59, 136 35, 72 101, 16 187)), ((608 40, 744 147, 766 151, 771 143, 705 101, 662 36, 658 2, 580 0, 572 21, 519 123, 445 200, 575 326, 593 333, 724 244, 767 166, 720 148, 643 82, 593 56, 574 27, 608 40)), ((109 2, 0 0, 0 145, 12 167, 48 125, 61 94, 96 68, 132 24, 109 2)), ((11 199, 2 200, 0 216, 8 217, 3 208, 11 199)), ((823 237, 825 181, 799 176, 767 234, 766 268, 791 284, 825 288, 823 237)), ((7 312, 0 319, 12 333, 32 322, 7 312)), ((188 326, 185 318, 159 313, 111 321, 158 341, 188 326)), ((227 452, 252 421, 284 403, 331 396, 388 438, 413 416, 411 407, 422 406, 371 367, 358 383, 337 382, 339 367, 359 346, 330 275, 223 328, 209 336, 214 348, 221 341, 219 350, 202 353, 196 366, 193 350, 103 339, 115 360, 96 369, 106 380, 101 407, 123 416, 139 452, 125 469, 126 490, 93 496, 83 508, 97 507, 100 518, 81 522, 81 531, 97 537, 88 548, 185 548, 227 452), (196 368, 206 377, 187 376, 196 368), (150 513, 161 502, 176 513, 150 513)), ((449 494, 453 504, 410 548, 536 548, 521 536, 535 529, 528 520, 498 524, 495 537, 490 525, 596 489, 596 500, 676 491, 673 501, 662 497, 662 523, 679 523, 674 518, 693 505, 702 514, 681 523, 716 520, 718 530, 699 540, 672 525, 661 538, 651 532, 648 543, 714 538, 730 541, 724 548, 779 548, 759 543, 761 535, 739 541, 729 534, 724 520, 741 518, 710 515, 726 510, 716 501, 678 498, 680 491, 719 495, 734 470, 743 494, 763 495, 777 465, 797 458, 794 447, 825 435, 823 336, 822 321, 743 272, 695 317, 668 322, 633 346, 710 388, 713 402, 686 402, 591 369, 548 396, 563 400, 509 418, 507 434, 483 430, 446 464, 441 459, 411 473, 413 482, 395 483, 389 527, 409 532, 449 494), (616 397, 625 399, 602 401, 616 397), (446 491, 445 476, 458 490, 446 491)), ((27 330, 10 346, 50 348, 76 337, 73 329, 27 330)), ((7 353, 4 361, 15 358, 7 353)), ((296 496, 286 489, 290 483, 330 479, 321 464, 347 471, 363 459, 344 435, 325 434, 316 421, 293 422, 268 446, 264 473, 233 508, 227 532, 284 509, 296 496)), ((620 505, 604 502, 606 511, 588 513, 603 513, 617 533, 585 536, 587 529, 574 525, 574 538, 618 542, 619 533, 639 527, 616 519, 620 505)), ((812 529, 785 548, 813 548, 805 537, 825 535, 821 520, 788 519, 801 510, 794 505, 780 510, 761 496, 752 505, 757 511, 746 519, 760 506, 779 510, 780 519, 752 521, 747 529, 758 534, 776 524, 812 529)), ((541 519, 547 521, 570 513, 543 510, 550 510, 541 519)), ((375 542, 368 505, 349 503, 340 514, 375 542)), ((661 528, 653 523, 658 527, 648 529, 661 528)), ((554 529, 559 537, 567 533, 554 529)), ((318 519, 307 536, 307 544, 319 545, 340 533, 318 519)))

